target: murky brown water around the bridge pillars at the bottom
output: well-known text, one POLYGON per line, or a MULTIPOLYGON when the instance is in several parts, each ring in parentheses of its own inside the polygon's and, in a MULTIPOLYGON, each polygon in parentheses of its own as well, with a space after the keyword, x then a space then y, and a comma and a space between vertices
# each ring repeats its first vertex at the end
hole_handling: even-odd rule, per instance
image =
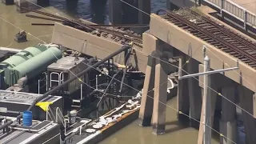
MULTIPOLYGON (((171 99, 167 105, 176 109, 177 98, 171 99)), ((177 111, 166 108, 166 134, 152 134, 152 127, 139 127, 138 121, 132 122, 117 133, 106 138, 100 144, 194 144, 198 142, 198 130, 185 127, 177 121, 177 111)), ((212 139, 217 144, 218 138, 212 139)))

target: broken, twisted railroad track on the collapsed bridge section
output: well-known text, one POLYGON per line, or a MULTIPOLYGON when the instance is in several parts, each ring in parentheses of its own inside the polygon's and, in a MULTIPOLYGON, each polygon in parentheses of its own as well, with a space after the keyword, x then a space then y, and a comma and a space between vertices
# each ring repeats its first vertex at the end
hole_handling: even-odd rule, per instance
MULTIPOLYGON (((45 19, 45 20, 54 21, 54 22, 62 22, 63 25, 74 27, 75 29, 97 35, 98 37, 108 38, 110 40, 113 40, 114 42, 119 42, 123 45, 133 42, 138 47, 142 47, 142 35, 136 34, 132 30, 125 30, 124 28, 118 28, 118 26, 111 27, 111 26, 104 26, 104 25, 99 25, 99 26, 86 25, 82 22, 77 22, 74 20, 60 17, 58 15, 42 12, 39 10, 31 10, 27 8, 22 8, 22 9, 50 17, 50 18, 45 18, 45 17, 35 16, 31 14, 26 14, 26 16, 30 18, 40 18, 40 19, 45 19)), ((120 25, 120 27, 122 27, 122 25, 120 25)))

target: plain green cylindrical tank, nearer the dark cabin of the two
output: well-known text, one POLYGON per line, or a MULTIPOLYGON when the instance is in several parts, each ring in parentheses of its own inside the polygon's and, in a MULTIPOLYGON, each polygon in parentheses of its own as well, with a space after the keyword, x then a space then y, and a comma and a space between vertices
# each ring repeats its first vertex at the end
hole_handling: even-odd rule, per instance
POLYGON ((14 78, 13 80, 15 83, 19 78, 24 76, 27 76, 27 79, 34 78, 34 76, 45 71, 47 66, 53 62, 56 62, 59 58, 62 58, 62 51, 57 47, 50 47, 48 50, 42 52, 41 54, 30 58, 18 66, 15 66, 12 69, 15 76, 12 78, 14 78))

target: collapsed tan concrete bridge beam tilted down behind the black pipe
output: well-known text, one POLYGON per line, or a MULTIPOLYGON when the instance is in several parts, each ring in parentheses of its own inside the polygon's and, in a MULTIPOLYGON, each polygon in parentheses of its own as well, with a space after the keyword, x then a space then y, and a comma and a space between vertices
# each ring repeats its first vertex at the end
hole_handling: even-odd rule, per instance
MULTIPOLYGON (((122 47, 122 44, 114 42, 113 40, 101 38, 94 34, 74 29, 70 26, 64 26, 58 22, 56 22, 54 26, 52 42, 72 50, 76 50, 82 54, 87 54, 100 59, 106 58, 107 55, 122 47)), ((150 44, 150 42, 148 44, 150 44)), ((131 58, 131 62, 135 67, 138 68, 138 70, 145 73, 147 55, 150 53, 146 49, 141 50, 141 48, 138 46, 134 46, 133 48, 135 50, 131 58)), ((124 55, 122 54, 120 58, 115 57, 114 61, 120 61, 120 64, 123 64, 122 62, 124 62, 124 55)))

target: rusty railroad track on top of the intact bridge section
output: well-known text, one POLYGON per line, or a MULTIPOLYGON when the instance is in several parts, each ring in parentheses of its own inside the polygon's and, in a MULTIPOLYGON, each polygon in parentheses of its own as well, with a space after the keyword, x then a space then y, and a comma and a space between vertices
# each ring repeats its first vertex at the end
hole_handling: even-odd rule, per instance
POLYGON ((166 14, 161 15, 162 18, 256 69, 256 45, 253 42, 242 38, 204 14, 186 9, 175 12, 165 11, 166 14))

